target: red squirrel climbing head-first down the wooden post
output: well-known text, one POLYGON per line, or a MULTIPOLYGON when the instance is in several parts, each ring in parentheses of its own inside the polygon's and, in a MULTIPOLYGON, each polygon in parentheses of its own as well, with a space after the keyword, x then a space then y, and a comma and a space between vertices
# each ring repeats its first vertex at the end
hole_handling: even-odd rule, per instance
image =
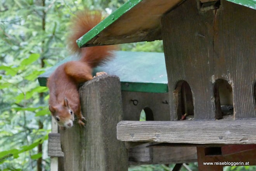
POLYGON ((113 56, 113 50, 116 48, 114 46, 79 48, 76 44, 78 38, 102 19, 100 11, 88 10, 78 12, 71 19, 67 45, 73 54, 79 55, 80 60, 62 64, 47 80, 47 87, 50 90, 49 110, 61 128, 73 126, 74 114, 80 126, 85 126, 86 120, 81 113, 79 85, 93 78, 93 67, 113 56))

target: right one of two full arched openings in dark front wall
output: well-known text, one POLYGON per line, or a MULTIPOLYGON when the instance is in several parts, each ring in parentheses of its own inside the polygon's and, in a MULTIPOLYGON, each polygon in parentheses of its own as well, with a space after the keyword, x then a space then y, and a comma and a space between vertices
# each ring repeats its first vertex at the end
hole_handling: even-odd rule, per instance
POLYGON ((233 90, 230 84, 224 79, 218 79, 214 84, 214 104, 215 119, 222 119, 223 116, 232 116, 233 107, 233 90))

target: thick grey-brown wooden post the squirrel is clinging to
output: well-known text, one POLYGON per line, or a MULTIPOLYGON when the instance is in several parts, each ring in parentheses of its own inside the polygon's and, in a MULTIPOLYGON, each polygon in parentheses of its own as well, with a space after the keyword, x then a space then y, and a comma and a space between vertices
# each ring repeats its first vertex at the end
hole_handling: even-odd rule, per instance
POLYGON ((116 139, 122 120, 121 86, 117 76, 99 76, 80 89, 86 128, 74 124, 61 131, 65 171, 128 170, 125 144, 116 139))

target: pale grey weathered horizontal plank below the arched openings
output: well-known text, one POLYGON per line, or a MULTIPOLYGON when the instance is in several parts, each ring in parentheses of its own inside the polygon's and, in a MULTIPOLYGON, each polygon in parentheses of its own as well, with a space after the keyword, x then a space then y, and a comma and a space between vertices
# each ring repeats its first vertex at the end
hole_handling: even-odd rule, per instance
POLYGON ((250 144, 256 143, 256 120, 237 121, 121 121, 121 141, 250 144))

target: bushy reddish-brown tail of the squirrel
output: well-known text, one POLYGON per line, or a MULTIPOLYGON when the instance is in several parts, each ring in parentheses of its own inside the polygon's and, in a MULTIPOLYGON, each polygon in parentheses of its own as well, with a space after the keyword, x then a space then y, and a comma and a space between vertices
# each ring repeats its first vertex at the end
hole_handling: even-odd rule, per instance
POLYGON ((91 67, 98 66, 102 62, 110 59, 113 56, 113 50, 116 46, 95 46, 79 48, 76 40, 87 33, 90 29, 96 26, 104 19, 100 11, 83 10, 71 18, 71 26, 69 37, 67 38, 68 48, 73 54, 79 54, 80 60, 86 62, 91 67))

